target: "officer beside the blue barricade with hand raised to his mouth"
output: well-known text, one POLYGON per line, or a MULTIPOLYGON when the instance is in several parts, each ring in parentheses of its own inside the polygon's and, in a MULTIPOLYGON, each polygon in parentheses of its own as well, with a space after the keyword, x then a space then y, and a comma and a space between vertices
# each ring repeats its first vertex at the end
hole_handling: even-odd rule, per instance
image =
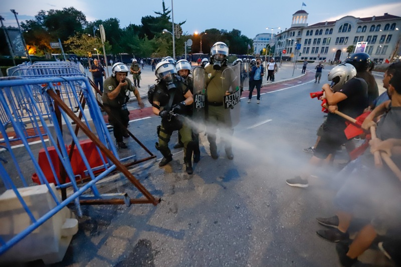
POLYGON ((125 64, 114 64, 111 73, 111 76, 104 80, 102 102, 106 112, 109 114, 109 122, 114 126, 113 132, 117 146, 119 148, 127 148, 127 145, 123 142, 123 137, 129 137, 126 130, 129 122, 129 111, 126 105, 127 91, 134 92, 141 109, 145 105, 139 96, 138 90, 127 78, 128 67, 125 64))

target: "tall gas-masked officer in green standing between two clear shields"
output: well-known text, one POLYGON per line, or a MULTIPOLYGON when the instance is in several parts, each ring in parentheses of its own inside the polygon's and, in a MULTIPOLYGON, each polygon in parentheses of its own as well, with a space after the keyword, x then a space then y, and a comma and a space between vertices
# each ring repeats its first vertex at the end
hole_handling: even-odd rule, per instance
POLYGON ((205 67, 206 95, 208 100, 207 134, 210 153, 213 159, 219 158, 216 145, 216 131, 217 128, 220 128, 220 131, 224 135, 221 139, 224 141, 227 158, 233 159, 231 137, 234 129, 231 122, 230 109, 225 109, 223 104, 223 97, 229 94, 228 90, 230 89, 231 81, 233 81, 228 76, 234 77, 234 72, 228 69, 229 67, 227 66, 229 48, 225 43, 217 42, 211 48, 211 55, 210 64, 205 67), (225 77, 222 77, 225 70, 225 77))

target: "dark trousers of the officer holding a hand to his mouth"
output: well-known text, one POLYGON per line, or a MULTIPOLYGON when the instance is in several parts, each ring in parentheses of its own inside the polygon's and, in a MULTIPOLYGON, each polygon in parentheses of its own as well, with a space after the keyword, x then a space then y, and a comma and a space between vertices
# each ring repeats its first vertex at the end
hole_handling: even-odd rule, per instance
POLYGON ((123 141, 123 134, 126 133, 126 128, 129 122, 129 111, 127 109, 115 108, 106 106, 106 112, 109 114, 109 123, 113 125, 113 134, 117 142, 123 141), (118 123, 120 121, 121 123, 118 123))

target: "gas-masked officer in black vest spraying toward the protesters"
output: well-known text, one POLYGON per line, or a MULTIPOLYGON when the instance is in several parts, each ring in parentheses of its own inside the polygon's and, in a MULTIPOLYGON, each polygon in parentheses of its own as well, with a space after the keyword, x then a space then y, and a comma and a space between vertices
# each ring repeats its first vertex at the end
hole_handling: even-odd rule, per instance
POLYGON ((179 131, 181 142, 184 144, 185 170, 192 174, 192 151, 187 149, 192 141, 191 129, 183 117, 188 112, 185 106, 193 102, 192 93, 184 80, 177 75, 175 66, 167 61, 156 65, 155 75, 159 82, 155 85, 152 110, 155 115, 161 117, 161 125, 157 127, 159 140, 156 143, 156 149, 163 155, 159 166, 162 167, 172 160, 168 142, 172 132, 179 131))

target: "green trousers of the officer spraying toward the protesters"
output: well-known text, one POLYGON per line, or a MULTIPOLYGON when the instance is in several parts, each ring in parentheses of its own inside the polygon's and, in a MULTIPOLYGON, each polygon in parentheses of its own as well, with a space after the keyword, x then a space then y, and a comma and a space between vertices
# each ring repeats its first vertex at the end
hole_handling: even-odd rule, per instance
MULTIPOLYGON (((186 156, 186 148, 188 143, 192 141, 192 131, 189 126, 185 123, 182 123, 181 129, 178 130, 181 135, 181 142, 184 144, 184 157, 186 156)), ((168 148, 168 142, 170 141, 172 132, 165 130, 163 125, 157 127, 157 135, 159 138, 158 144, 156 144, 156 148, 161 152, 164 157, 171 156, 171 151, 168 148)))

